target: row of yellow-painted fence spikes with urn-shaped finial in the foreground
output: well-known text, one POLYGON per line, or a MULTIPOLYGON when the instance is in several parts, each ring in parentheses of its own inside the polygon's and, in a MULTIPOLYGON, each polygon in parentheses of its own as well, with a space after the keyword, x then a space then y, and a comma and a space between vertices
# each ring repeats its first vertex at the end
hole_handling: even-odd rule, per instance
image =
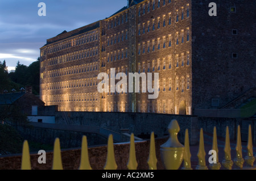
MULTIPOLYGON (((170 133, 169 140, 160 146, 160 154, 164 167, 168 170, 180 169, 181 163, 183 163, 182 170, 192 170, 191 167, 191 152, 189 148, 189 134, 188 129, 185 131, 184 145, 181 145, 177 139, 177 133, 180 131, 179 124, 176 120, 172 120, 168 131, 170 133)), ((232 160, 231 157, 231 148, 229 140, 229 128, 226 127, 226 137, 225 137, 225 148, 224 153, 225 157, 220 163, 218 159, 218 144, 217 144, 217 133, 216 127, 213 129, 213 142, 212 150, 215 152, 215 157, 213 157, 213 163, 209 164, 209 169, 219 170, 222 166, 225 169, 243 169, 243 163, 245 162, 248 167, 246 169, 255 169, 254 167, 254 155, 253 155, 253 141, 251 135, 251 125, 249 125, 248 132, 248 141, 247 141, 247 155, 245 159, 242 156, 242 143, 241 143, 241 131, 240 126, 237 128, 237 144, 236 144, 236 157, 232 160), (235 167, 236 166, 236 167, 235 167)), ((204 136, 203 129, 200 130, 200 140, 199 140, 199 151, 197 153, 198 162, 196 170, 208 170, 208 166, 205 162, 205 148, 204 148, 204 136)), ((154 132, 151 133, 150 138, 150 151, 148 155, 148 169, 156 170, 157 169, 158 159, 156 158, 155 150, 155 137, 154 132)), ((108 138, 108 153, 106 157, 106 163, 104 168, 105 170, 116 170, 117 163, 115 162, 114 155, 114 144, 113 144, 113 135, 110 134, 108 138)), ((129 150, 129 160, 127 162, 127 169, 136 170, 138 167, 136 154, 135 154, 135 143, 134 143, 134 134, 131 134, 130 137, 130 150, 129 150)), ((31 161, 30 161, 30 152, 28 148, 28 142, 25 140, 23 143, 23 152, 22 152, 22 170, 31 170, 31 161)), ((81 158, 80 158, 80 170, 92 170, 89 161, 88 155, 88 144, 86 136, 82 137, 81 144, 81 158)), ((59 138, 55 139, 54 149, 53 149, 53 164, 52 170, 63 170, 63 165, 61 161, 61 150, 60 150, 60 140, 59 138)))

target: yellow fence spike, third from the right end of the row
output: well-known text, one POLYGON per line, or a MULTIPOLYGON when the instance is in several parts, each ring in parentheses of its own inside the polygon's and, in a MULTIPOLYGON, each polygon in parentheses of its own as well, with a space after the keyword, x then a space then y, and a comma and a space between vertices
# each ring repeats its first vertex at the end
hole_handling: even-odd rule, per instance
POLYGON ((229 127, 226 127, 226 138, 225 138, 225 157, 224 160, 222 161, 222 165, 228 169, 231 170, 233 166, 233 161, 231 159, 231 153, 230 153, 230 140, 229 140, 229 127))

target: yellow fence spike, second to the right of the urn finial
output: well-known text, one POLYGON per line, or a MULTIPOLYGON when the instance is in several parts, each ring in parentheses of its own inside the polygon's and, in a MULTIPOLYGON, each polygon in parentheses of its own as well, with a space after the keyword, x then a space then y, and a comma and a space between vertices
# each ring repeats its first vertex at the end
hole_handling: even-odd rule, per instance
POLYGON ((204 133, 203 128, 200 130, 200 141, 199 141, 199 150, 197 153, 198 165, 196 170, 208 170, 208 167, 205 164, 205 150, 204 150, 204 133))

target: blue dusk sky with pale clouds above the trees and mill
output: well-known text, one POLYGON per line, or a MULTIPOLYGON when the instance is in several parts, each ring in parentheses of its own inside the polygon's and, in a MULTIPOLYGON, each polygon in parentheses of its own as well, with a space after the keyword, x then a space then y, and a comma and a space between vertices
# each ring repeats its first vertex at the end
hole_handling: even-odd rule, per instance
POLYGON ((30 65, 39 48, 59 33, 105 19, 127 6, 126 0, 1 0, 0 61, 9 70, 17 62, 30 65), (46 3, 46 16, 39 16, 38 4, 46 3))

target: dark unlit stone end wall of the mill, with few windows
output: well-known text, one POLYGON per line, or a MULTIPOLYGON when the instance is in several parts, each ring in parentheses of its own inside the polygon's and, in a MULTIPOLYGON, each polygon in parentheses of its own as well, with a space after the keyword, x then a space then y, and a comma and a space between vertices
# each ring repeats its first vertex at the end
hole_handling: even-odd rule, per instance
MULTIPOLYGON (((214 1, 217 16, 209 16, 212 1, 192 1, 193 108, 220 106, 255 87, 256 1, 214 1), (236 7, 236 12, 230 12, 236 7), (237 30, 237 35, 232 35, 237 30), (232 58, 232 53, 238 53, 232 58)), ((218 108, 219 108, 218 107, 218 108)), ((217 107, 214 107, 217 108, 217 107)))

